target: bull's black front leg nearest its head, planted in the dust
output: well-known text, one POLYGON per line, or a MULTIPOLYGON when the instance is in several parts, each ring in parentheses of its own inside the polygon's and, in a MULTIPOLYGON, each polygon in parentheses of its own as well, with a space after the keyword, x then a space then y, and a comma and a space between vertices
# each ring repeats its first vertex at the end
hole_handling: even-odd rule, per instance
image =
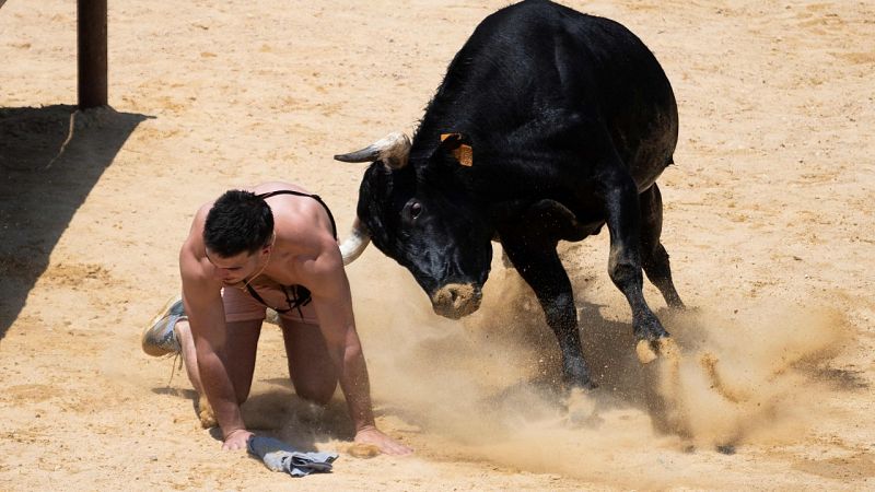
POLYGON ((556 253, 556 242, 545 244, 544 236, 521 237, 505 234, 501 237, 501 244, 516 271, 535 291, 547 317, 547 325, 559 340, 565 384, 586 389, 595 388, 583 359, 574 294, 556 253))

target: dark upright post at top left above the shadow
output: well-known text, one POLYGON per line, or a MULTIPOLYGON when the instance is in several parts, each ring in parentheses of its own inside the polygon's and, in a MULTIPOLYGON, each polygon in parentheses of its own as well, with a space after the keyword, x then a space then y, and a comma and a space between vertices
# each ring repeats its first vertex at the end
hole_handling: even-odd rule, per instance
POLYGON ((106 0, 77 0, 79 108, 106 106, 106 0))

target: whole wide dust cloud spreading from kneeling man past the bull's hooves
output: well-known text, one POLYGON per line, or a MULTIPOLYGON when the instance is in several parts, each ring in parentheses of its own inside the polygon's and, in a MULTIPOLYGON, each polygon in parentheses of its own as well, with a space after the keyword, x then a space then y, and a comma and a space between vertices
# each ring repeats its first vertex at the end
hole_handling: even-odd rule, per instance
MULTIPOLYGON (((611 321, 604 306, 579 298, 599 389, 564 393, 556 337, 514 270, 497 261, 480 311, 453 321, 435 315, 390 260, 362 267, 351 278, 372 391, 382 412, 400 421, 387 431, 427 455, 530 472, 640 487, 641 467, 668 453, 666 473, 695 482, 691 448, 800 435, 830 390, 818 374, 847 340, 847 323, 826 309, 756 305, 728 318, 714 314, 720 307, 661 312, 680 350, 642 366, 628 307, 618 304, 623 311, 611 321)), ((575 285, 579 294, 585 289, 575 285)))

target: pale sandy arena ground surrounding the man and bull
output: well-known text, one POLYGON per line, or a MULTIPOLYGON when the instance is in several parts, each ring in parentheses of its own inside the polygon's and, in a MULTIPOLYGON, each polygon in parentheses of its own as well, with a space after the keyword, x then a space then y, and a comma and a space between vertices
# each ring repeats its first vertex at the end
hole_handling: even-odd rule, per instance
POLYGON ((588 395, 551 390, 555 338, 500 261, 452 323, 371 248, 348 274, 377 421, 416 454, 343 454, 342 396, 298 400, 266 326, 247 422, 341 453, 296 480, 222 452, 140 331, 225 189, 301 183, 346 231, 363 166, 331 155, 412 131, 504 1, 110 1, 112 109, 73 118, 75 2, 0 1, 0 490, 875 489, 875 4, 565 3, 630 27, 677 95, 663 243, 695 308, 645 295, 678 358, 637 362, 606 233, 561 246, 588 395))

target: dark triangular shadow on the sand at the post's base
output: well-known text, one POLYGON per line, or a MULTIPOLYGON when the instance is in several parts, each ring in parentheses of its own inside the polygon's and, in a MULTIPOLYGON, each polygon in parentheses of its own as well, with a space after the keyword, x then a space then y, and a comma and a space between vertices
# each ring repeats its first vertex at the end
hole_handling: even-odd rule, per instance
POLYGON ((0 108, 0 341, 73 214, 147 118, 109 107, 0 108))

